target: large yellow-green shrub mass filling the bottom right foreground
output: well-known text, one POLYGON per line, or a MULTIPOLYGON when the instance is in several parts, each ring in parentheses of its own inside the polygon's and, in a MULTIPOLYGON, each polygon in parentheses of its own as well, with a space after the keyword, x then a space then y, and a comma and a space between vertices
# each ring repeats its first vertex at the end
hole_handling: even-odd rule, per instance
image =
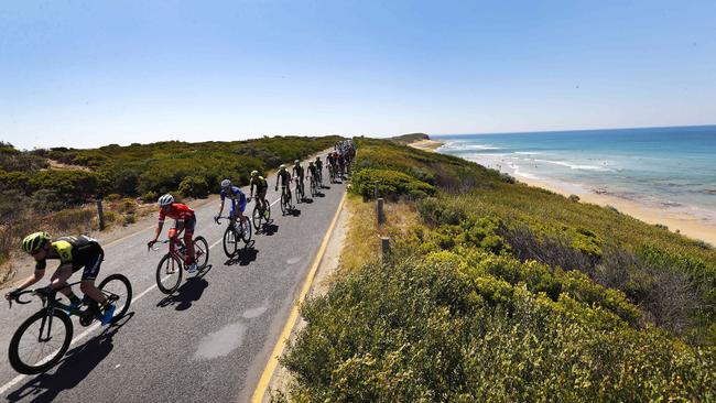
POLYGON ((306 302, 281 362, 301 401, 710 401, 714 349, 448 255, 369 264, 306 302), (615 322, 616 320, 616 322, 615 322), (614 326, 617 324, 617 326, 614 326))

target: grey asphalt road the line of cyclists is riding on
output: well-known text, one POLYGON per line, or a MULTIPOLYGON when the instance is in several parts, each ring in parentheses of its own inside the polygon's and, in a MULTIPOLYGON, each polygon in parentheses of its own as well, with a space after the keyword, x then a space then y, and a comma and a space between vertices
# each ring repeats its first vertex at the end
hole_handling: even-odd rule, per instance
MULTIPOLYGON (((324 170, 324 183, 326 176, 324 170)), ((274 183, 271 176, 270 203, 279 198, 274 183)), ((130 279, 130 315, 104 328, 84 328, 75 318, 78 340, 63 361, 24 377, 8 363, 7 349, 17 327, 40 303, 1 308, 0 395, 13 402, 248 401, 344 192, 344 184, 329 185, 322 196, 297 204, 293 216, 282 216, 274 204, 269 231, 254 233, 252 248, 232 261, 221 248, 226 221, 217 226, 213 220, 218 202, 197 208, 195 235, 209 242, 210 268, 203 275, 185 273, 171 297, 155 286, 156 264, 167 247, 147 251, 153 229, 105 247, 99 280, 116 272, 130 279)), ((252 208, 253 203, 247 210, 252 208)), ((48 269, 54 268, 51 262, 48 269)), ((70 281, 78 277, 76 273, 70 281)))

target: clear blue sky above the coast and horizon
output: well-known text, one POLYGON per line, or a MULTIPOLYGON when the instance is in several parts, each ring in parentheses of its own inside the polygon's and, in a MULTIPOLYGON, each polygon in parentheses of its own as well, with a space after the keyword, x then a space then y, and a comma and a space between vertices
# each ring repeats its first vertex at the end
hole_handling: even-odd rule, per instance
POLYGON ((716 123, 716 1, 2 1, 0 140, 716 123))

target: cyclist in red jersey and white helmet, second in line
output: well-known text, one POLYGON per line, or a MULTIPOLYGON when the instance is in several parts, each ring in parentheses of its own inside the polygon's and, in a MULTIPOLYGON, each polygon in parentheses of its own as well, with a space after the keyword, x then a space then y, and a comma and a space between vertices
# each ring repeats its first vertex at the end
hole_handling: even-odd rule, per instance
POLYGON ((166 194, 159 198, 159 224, 154 230, 154 239, 147 243, 150 248, 156 243, 159 235, 164 227, 164 218, 170 217, 174 219, 174 228, 169 230, 169 237, 178 239, 182 231, 184 231, 184 244, 188 252, 188 262, 186 271, 194 273, 198 266, 196 265, 196 258, 194 254, 194 228, 196 228, 196 215, 194 210, 187 205, 174 202, 174 196, 166 194))

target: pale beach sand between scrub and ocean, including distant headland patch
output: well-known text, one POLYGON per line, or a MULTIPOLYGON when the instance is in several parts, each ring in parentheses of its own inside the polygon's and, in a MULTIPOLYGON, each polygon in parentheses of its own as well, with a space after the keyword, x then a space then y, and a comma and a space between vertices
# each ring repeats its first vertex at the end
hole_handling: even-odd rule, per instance
MULTIPOLYGON (((425 151, 435 151, 442 144, 442 142, 435 140, 422 140, 410 144, 410 146, 425 151)), ((567 197, 572 194, 575 194, 579 196, 581 203, 592 203, 598 206, 611 206, 620 213, 634 217, 644 222, 652 225, 661 224, 669 227, 669 229, 672 231, 679 230, 679 232, 683 236, 708 242, 712 246, 716 246, 716 225, 705 222, 695 215, 688 213, 670 211, 664 208, 650 207, 633 200, 628 200, 610 195, 597 194, 590 190, 575 190, 575 188, 578 188, 578 186, 575 186, 575 188, 567 188, 565 186, 561 186, 560 184, 546 181, 538 181, 520 175, 516 175, 516 178, 530 186, 542 187, 544 189, 567 197)))

